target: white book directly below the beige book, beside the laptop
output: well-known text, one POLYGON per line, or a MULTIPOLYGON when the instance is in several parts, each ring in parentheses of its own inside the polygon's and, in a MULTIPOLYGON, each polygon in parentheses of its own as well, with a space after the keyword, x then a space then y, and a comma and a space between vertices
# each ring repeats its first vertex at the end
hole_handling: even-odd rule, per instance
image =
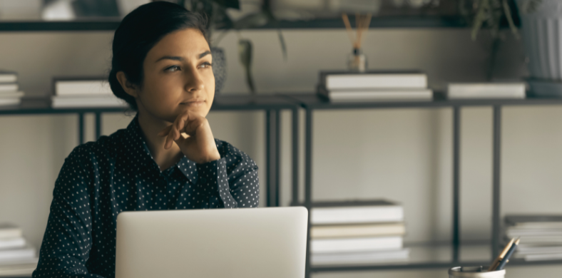
POLYGON ((313 254, 389 249, 402 249, 402 237, 353 237, 310 241, 310 252, 313 254))

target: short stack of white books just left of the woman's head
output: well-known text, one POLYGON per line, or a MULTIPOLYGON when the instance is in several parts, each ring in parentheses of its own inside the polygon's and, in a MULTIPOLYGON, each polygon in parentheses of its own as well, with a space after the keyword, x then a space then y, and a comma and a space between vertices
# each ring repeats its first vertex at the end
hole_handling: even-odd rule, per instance
POLYGON ((53 108, 126 107, 126 102, 113 95, 103 78, 55 78, 53 108))

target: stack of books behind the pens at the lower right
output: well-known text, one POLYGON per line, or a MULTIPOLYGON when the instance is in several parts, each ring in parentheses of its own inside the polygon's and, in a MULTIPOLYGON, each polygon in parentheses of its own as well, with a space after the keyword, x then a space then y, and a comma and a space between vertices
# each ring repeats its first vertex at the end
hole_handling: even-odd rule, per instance
POLYGON ((505 237, 518 238, 514 257, 526 261, 562 259, 562 215, 507 215, 505 237))

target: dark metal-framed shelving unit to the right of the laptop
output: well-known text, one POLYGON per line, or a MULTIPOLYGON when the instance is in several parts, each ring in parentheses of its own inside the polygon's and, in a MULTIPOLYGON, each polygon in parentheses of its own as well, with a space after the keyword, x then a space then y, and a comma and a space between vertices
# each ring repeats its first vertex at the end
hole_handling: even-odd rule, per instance
MULTIPOLYGON (((325 98, 321 98, 315 93, 286 94, 287 99, 294 101, 302 106, 306 111, 305 116, 305 206, 309 210, 312 208, 312 128, 313 114, 315 110, 341 110, 341 109, 392 109, 392 108, 451 108, 453 114, 453 227, 451 230, 451 244, 446 247, 431 246, 417 247, 412 249, 412 259, 406 262, 388 264, 369 264, 361 266, 312 266, 310 264, 310 235, 307 236, 307 269, 306 277, 309 278, 312 272, 332 272, 332 271, 356 271, 369 269, 427 269, 427 268, 447 268, 469 265, 489 264, 492 257, 499 254, 501 243, 500 231, 500 169, 501 169, 501 108, 508 105, 562 105, 562 98, 532 98, 526 99, 490 99, 490 100, 434 100, 434 101, 404 101, 404 102, 362 102, 362 103, 331 103, 325 98), (460 242, 460 130, 461 130, 461 108, 469 106, 489 106, 494 110, 493 113, 493 163, 492 163, 492 233, 491 242, 480 244, 480 248, 488 249, 486 253, 490 261, 485 262, 466 262, 461 259, 464 253, 460 242), (440 249, 447 249, 445 257, 420 256, 419 254, 431 254, 440 249), (429 252, 429 253, 428 253, 429 252)), ((297 187, 293 192, 298 192, 297 187)), ((298 193, 297 193, 298 194, 298 193)), ((293 195, 293 204, 298 203, 298 195, 293 195)), ((310 230, 310 217, 309 217, 310 230)), ((474 247, 474 246, 473 246, 474 247)), ((484 254, 484 253, 482 253, 484 254)), ((544 262, 525 262, 521 259, 513 259, 510 264, 562 264, 562 260, 544 262)))

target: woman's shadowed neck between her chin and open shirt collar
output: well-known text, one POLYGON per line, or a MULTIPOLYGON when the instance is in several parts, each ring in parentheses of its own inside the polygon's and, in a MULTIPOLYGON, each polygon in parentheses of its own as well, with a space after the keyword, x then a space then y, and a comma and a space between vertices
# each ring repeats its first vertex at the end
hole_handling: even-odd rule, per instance
POLYGON ((141 126, 141 132, 144 135, 148 150, 150 150, 150 155, 162 171, 175 165, 183 157, 183 153, 175 143, 172 144, 172 148, 165 150, 165 137, 158 136, 158 133, 170 124, 139 110, 138 125, 141 126))

